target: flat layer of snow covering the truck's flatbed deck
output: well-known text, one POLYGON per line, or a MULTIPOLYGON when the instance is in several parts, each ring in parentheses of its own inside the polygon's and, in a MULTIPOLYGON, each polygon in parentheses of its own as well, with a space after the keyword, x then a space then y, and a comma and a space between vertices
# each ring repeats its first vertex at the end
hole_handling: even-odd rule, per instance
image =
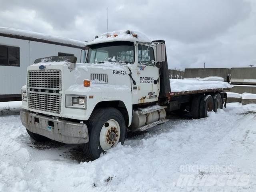
POLYGON ((208 90, 208 89, 230 89, 232 86, 227 82, 221 81, 198 81, 186 79, 170 79, 172 92, 184 92, 194 90, 208 90))

